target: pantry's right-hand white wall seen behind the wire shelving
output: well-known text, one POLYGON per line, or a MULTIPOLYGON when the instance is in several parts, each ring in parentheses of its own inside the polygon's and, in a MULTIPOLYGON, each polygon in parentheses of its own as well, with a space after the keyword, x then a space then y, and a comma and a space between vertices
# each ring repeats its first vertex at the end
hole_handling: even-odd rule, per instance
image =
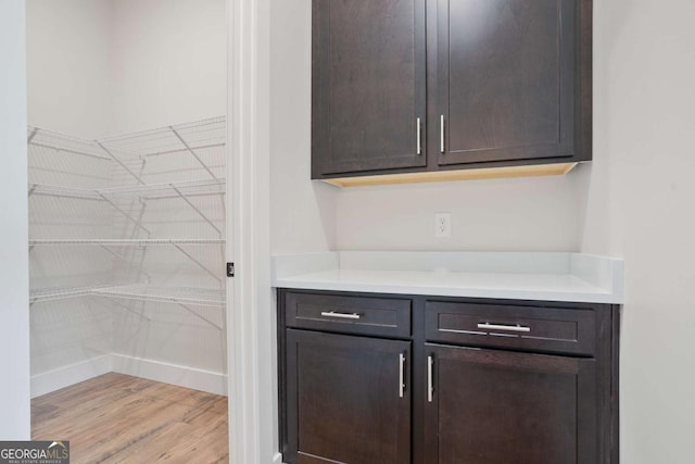
MULTIPOLYGON (((112 0, 110 97, 111 131, 122 134, 188 123, 227 113, 227 21, 225 0, 112 0)), ((202 129, 205 129, 204 127, 202 129)), ((210 128, 207 128, 210 130, 210 128)), ((225 175, 219 150, 200 155, 217 176, 225 175)), ((143 174, 147 181, 206 179, 188 153, 154 156, 143 174), (174 172, 185 167, 178 174, 174 172)), ((193 202, 224 230, 219 197, 193 202)), ((143 215, 153 237, 218 238, 204 221, 180 200, 150 202, 143 215)), ((127 224, 127 223, 126 223, 127 224)), ((224 235, 223 235, 224 236, 224 235)), ((211 269, 224 268, 224 252, 216 246, 187 250, 211 269)), ((172 248, 149 249, 144 268, 154 285, 217 288, 218 283, 172 248)), ((150 362, 170 372, 202 369, 213 380, 193 388, 226 391, 225 331, 172 304, 148 303, 151 323, 123 311, 114 313, 114 353, 125 356, 122 369, 148 376, 150 362)), ((219 309, 193 310, 223 325, 219 309)), ((178 375, 157 376, 176 383, 178 375)), ((182 376, 178 377, 182 378, 182 376)))

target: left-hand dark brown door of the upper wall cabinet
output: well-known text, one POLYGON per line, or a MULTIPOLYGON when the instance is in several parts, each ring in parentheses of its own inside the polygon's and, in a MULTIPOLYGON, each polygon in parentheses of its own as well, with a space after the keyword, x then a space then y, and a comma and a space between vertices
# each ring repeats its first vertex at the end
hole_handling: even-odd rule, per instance
POLYGON ((313 0, 313 178, 425 166, 425 4, 313 0))

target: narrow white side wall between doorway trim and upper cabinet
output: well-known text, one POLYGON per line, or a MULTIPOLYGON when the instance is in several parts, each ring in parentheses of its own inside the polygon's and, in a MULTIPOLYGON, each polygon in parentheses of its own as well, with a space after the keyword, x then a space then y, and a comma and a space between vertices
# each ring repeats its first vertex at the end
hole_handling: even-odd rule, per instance
POLYGON ((336 247, 337 190, 311 179, 312 2, 270 4, 270 251, 336 247))

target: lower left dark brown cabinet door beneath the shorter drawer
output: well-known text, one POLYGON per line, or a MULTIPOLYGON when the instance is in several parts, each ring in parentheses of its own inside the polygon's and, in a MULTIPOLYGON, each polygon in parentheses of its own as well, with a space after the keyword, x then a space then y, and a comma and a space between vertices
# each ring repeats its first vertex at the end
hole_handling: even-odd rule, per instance
POLYGON ((287 330, 290 464, 410 462, 410 342, 287 330))

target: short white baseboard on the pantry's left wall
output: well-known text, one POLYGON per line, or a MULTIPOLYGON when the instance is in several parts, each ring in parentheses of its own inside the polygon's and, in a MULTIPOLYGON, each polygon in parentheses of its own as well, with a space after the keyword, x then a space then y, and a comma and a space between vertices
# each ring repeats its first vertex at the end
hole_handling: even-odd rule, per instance
POLYGON ((91 358, 31 376, 31 398, 50 393, 112 371, 111 354, 91 358))

